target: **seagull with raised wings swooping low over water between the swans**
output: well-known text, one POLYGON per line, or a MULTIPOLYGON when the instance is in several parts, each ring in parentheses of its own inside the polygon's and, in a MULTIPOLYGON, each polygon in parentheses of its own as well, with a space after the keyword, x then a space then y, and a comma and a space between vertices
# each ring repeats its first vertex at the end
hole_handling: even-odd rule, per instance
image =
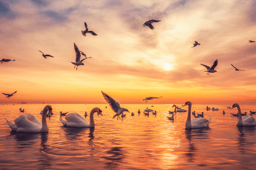
MULTIPOLYGON (((109 96, 108 94, 104 93, 103 91, 101 91, 101 93, 103 94, 103 97, 104 99, 106 100, 106 102, 109 103, 111 109, 116 113, 113 118, 115 118, 117 116, 117 119, 118 117, 120 118, 120 115, 123 113, 123 112, 129 112, 128 109, 125 109, 125 108, 121 108, 120 107, 120 104, 115 101, 113 98, 111 98, 111 96, 109 96)), ((130 113, 130 112, 129 112, 130 113)))

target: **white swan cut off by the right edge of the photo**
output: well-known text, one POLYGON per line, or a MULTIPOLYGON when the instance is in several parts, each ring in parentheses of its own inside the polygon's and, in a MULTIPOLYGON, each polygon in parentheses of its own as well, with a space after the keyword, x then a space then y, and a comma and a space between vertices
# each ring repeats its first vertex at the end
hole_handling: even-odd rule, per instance
POLYGON ((240 106, 235 103, 232 106, 232 109, 237 107, 238 108, 238 123, 237 126, 256 126, 256 120, 252 115, 242 117, 240 106))

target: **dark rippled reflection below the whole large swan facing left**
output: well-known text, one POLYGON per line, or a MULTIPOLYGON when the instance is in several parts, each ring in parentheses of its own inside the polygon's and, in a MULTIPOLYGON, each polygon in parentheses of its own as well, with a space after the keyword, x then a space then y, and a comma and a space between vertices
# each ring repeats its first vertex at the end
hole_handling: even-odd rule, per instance
POLYGON ((185 130, 186 139, 188 140, 188 150, 185 155, 188 157, 188 162, 195 162, 196 153, 200 153, 200 151, 196 149, 194 143, 200 143, 200 140, 208 139, 209 129, 210 128, 185 130), (196 141, 196 139, 199 140, 196 141))

